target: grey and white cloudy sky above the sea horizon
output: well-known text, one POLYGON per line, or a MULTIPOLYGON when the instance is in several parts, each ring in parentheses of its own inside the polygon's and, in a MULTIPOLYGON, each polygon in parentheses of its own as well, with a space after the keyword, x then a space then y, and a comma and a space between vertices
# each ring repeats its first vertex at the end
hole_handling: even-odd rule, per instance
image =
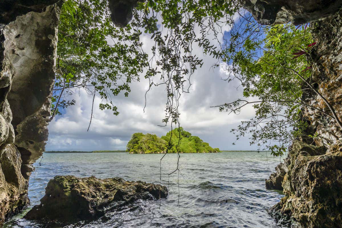
MULTIPOLYGON (((229 28, 225 28, 229 31, 229 28)), ((145 48, 152 42, 150 36, 142 37, 145 48)), ((196 56, 203 58, 203 66, 192 76, 193 85, 190 93, 182 94, 180 99, 181 126, 193 135, 199 136, 212 147, 228 150, 252 150, 248 138, 235 142, 230 130, 242 120, 251 118, 252 107, 246 107, 240 115, 227 115, 218 108, 210 106, 232 102, 242 97, 238 81, 226 82, 226 72, 222 67, 211 68, 216 62, 211 56, 204 56, 202 49, 194 50, 196 56)), ((144 94, 148 81, 141 80, 131 85, 128 97, 119 95, 114 98, 120 114, 114 116, 110 110, 99 110, 100 98, 95 97, 93 120, 89 125, 92 96, 79 91, 74 99, 75 106, 65 110, 64 115, 57 116, 49 125, 49 140, 46 150, 116 150, 125 149, 128 140, 135 132, 155 133, 158 136, 170 131, 170 126, 160 127, 165 118, 166 91, 163 86, 153 87, 147 94, 147 106, 143 112, 144 94)))

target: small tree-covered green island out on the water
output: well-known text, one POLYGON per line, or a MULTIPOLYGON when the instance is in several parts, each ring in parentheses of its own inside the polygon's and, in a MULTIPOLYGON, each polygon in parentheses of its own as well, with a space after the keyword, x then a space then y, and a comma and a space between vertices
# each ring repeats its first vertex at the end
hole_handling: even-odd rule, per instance
POLYGON ((134 133, 128 142, 129 153, 217 153, 219 148, 212 148, 198 136, 192 136, 182 127, 158 137, 155 134, 134 133), (170 145, 169 145, 170 143, 170 145))

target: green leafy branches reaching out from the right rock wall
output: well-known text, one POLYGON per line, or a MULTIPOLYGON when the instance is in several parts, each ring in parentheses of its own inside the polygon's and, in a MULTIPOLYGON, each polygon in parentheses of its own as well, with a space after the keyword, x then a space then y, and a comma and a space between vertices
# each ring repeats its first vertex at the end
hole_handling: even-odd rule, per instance
POLYGON ((279 156, 305 128, 301 121, 305 82, 298 73, 305 79, 311 75, 307 58, 313 41, 306 26, 248 28, 232 35, 224 61, 231 63, 228 70, 241 81, 243 95, 250 99, 224 104, 220 111, 239 113, 245 105, 253 104, 255 117, 242 121, 232 132, 237 139, 251 135, 250 144, 264 145, 279 156))

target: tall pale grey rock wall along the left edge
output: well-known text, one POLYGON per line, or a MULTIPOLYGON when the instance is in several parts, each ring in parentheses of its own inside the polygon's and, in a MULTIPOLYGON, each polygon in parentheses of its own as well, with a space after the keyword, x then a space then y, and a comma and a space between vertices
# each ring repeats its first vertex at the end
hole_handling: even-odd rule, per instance
POLYGON ((48 138, 62 4, 56 2, 1 2, 0 223, 29 203, 32 164, 48 138))

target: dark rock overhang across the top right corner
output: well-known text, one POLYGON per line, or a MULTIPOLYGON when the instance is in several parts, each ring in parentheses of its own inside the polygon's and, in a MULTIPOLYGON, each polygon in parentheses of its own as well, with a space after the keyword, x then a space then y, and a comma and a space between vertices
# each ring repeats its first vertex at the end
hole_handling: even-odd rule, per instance
POLYGON ((342 0, 240 0, 240 3, 263 25, 312 22, 334 15, 342 6, 342 0))

